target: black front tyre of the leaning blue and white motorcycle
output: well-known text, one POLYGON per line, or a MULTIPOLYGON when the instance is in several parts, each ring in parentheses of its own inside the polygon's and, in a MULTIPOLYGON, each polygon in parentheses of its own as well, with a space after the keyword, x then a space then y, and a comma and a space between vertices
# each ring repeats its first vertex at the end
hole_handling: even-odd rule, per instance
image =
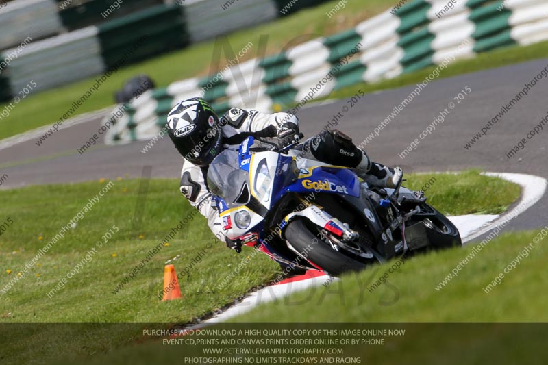
POLYGON ((320 234, 314 234, 303 218, 295 218, 286 227, 286 240, 314 266, 329 275, 340 275, 347 271, 363 270, 366 266, 353 255, 345 255, 333 249, 320 234))

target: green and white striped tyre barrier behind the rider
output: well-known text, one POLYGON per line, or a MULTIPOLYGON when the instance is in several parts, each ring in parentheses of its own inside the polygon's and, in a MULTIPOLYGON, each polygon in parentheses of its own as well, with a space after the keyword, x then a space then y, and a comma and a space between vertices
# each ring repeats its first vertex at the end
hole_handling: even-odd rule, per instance
POLYGON ((153 90, 129 108, 108 142, 152 138, 169 109, 188 97, 204 97, 219 114, 232 106, 298 112, 308 101, 346 86, 543 40, 548 40, 545 0, 415 0, 347 32, 232 66, 222 78, 188 79, 153 90))

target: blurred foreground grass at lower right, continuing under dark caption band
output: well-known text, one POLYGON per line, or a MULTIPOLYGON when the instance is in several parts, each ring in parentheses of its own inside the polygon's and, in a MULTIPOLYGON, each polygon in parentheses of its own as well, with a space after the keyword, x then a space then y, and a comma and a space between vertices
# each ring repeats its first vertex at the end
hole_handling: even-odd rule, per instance
MULTIPOLYGON (((345 275, 329 286, 310 288, 260 305, 252 312, 236 317, 231 323, 208 327, 210 330, 259 331, 272 329, 396 329, 405 331, 403 336, 361 336, 366 339, 384 339, 382 345, 353 344, 327 346, 344 349, 344 355, 283 355, 277 364, 288 363, 284 359, 299 359, 303 364, 543 364, 548 315, 545 303, 548 294, 544 290, 548 278, 544 275, 548 249, 547 240, 539 231, 504 234, 491 241, 475 259, 471 260, 442 290, 436 290, 443 279, 473 247, 429 253, 404 262, 390 273, 386 284, 372 293, 369 286, 377 280, 393 262, 364 270, 359 274, 345 275), (539 241, 520 264, 504 274, 490 292, 484 288, 491 284, 505 267, 516 259, 523 247, 539 241), (541 323, 539 323, 541 322, 541 323), (339 324, 339 325, 337 325, 339 324), (466 349, 466 351, 463 351, 466 349), (322 361, 325 357, 359 358, 360 362, 322 361), (308 362, 300 359, 306 358, 308 362)), ((182 338, 198 338, 183 336, 182 338)), ((221 338, 255 338, 256 336, 223 336, 221 338)), ((257 336, 270 338, 271 336, 257 336)), ((286 338, 290 336, 274 336, 286 338)), ((332 338, 333 336, 310 336, 332 338)), ((360 338, 360 336, 334 336, 360 338)), ((201 336, 199 338, 219 338, 201 336)), ((303 336, 302 338, 308 338, 303 336)), ((166 345, 161 338, 125 346, 116 351, 101 351, 95 357, 74 364, 151 364, 153 362, 180 362, 183 358, 205 359, 213 363, 221 355, 208 355, 203 350, 211 346, 189 343, 166 345)), ((226 352, 238 354, 238 350, 257 349, 249 344, 219 346, 226 352)), ((315 346, 281 346, 287 349, 321 349, 315 346)), ((306 353, 305 353, 306 354, 306 353)), ((238 355, 223 355, 231 359, 238 355)), ((256 364, 264 364, 268 355, 254 357, 256 364)), ((65 356, 66 357, 66 356, 65 356)), ((268 357, 271 358, 271 357, 268 357)), ((235 360, 234 360, 235 361, 235 360)), ((296 360, 293 360, 294 362, 296 360)), ((243 362, 242 362, 243 363, 243 362)), ((269 362, 269 364, 274 362, 269 362)))

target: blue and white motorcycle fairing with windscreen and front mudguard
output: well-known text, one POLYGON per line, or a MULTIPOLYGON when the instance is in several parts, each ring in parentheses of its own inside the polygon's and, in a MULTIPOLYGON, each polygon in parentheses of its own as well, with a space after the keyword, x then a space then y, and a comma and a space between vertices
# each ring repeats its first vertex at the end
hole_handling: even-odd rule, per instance
MULTIPOLYGON (((250 136, 238 149, 226 149, 208 170, 208 186, 216 196, 214 201, 228 238, 255 233, 264 239, 264 216, 289 192, 360 197, 360 181, 348 168, 317 166, 319 162, 306 159, 299 159, 302 162, 299 168, 291 156, 250 151, 254 142, 250 136)), ((342 223, 315 206, 289 214, 280 227, 295 215, 306 216, 330 231, 343 231, 339 226, 342 223)))

